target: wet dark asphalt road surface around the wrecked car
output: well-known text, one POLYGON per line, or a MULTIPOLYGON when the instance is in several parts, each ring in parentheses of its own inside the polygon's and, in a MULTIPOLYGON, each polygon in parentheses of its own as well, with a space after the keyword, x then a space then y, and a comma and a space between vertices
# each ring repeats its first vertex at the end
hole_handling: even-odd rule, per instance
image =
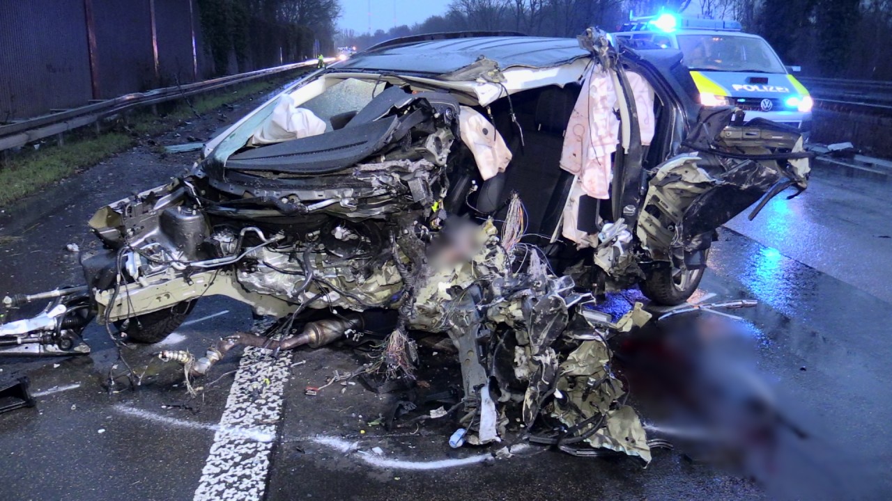
MULTIPOLYGON (((210 134, 219 124, 195 127, 210 134)), ((0 291, 77 283, 74 256, 62 249, 68 242, 90 244, 84 223, 92 211, 161 184, 189 161, 188 154, 160 159, 148 146, 138 147, 0 215, 0 235, 19 237, 0 247, 6 270, 0 291)), ((294 363, 306 363, 293 365, 285 385, 263 479, 266 497, 757 499, 789 495, 789 482, 780 477, 795 479, 790 497, 888 498, 889 197, 888 177, 817 166, 803 196, 772 201, 755 222, 735 219, 714 244, 711 269, 695 299, 714 294, 714 300, 760 301, 733 313, 756 340, 758 371, 775 387, 780 408, 809 432, 806 443, 783 449, 786 461, 777 465, 783 474, 770 476, 767 492, 739 474, 664 450, 647 469, 629 459, 537 449, 441 468, 442 460, 481 453, 450 449, 445 426, 387 433, 369 425, 392 407, 394 395, 338 384, 315 397, 304 395, 306 386, 320 385, 333 371, 358 366, 350 350, 320 349, 293 356, 294 363), (380 447, 379 459, 392 462, 370 452, 344 454, 331 445, 334 439, 356 442, 364 452, 380 447)), ((200 321, 179 329, 166 341, 169 347, 203 351, 220 335, 251 326, 248 308, 216 298, 201 300, 190 318, 200 321), (201 320, 221 311, 228 313, 201 320)), ((221 379, 202 398, 186 402, 181 372, 151 362, 157 346, 128 349, 128 361, 137 372, 145 370, 144 384, 136 391, 118 385, 110 395, 103 387, 109 371, 121 370, 115 350, 99 326, 85 337, 93 348, 89 357, 0 362, 0 378, 29 374, 32 390, 44 394, 37 408, 0 415, 0 498, 192 499, 227 407, 233 376, 224 374, 235 370, 237 353, 215 367, 211 378, 221 379)), ((427 358, 432 374, 454 374, 445 357, 427 358)))

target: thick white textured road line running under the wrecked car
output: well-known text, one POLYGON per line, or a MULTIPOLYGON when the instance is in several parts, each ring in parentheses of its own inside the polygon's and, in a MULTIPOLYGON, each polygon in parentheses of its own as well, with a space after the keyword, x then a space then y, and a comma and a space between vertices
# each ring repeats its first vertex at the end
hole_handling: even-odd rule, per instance
POLYGON ((195 489, 195 501, 260 501, 263 498, 272 439, 276 437, 276 426, 282 415, 282 394, 292 358, 291 351, 274 358, 266 349, 244 349, 229 389, 226 409, 214 434, 210 456, 195 489), (247 439, 245 431, 270 440, 247 439))

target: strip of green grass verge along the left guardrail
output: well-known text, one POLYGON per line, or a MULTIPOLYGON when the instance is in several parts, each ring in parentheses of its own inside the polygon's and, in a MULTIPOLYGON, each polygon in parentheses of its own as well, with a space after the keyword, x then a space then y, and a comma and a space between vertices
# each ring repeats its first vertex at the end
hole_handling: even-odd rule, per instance
POLYGON ((207 113, 246 96, 270 92, 293 78, 254 81, 193 96, 190 98, 191 107, 185 101, 178 102, 161 117, 147 111, 136 111, 128 115, 126 122, 121 121, 99 135, 87 132, 87 127, 67 133, 62 145, 54 144, 50 138, 37 150, 33 145, 26 145, 21 151, 7 154, 0 160, 0 207, 6 207, 45 186, 128 150, 136 145, 140 137, 155 136, 188 119, 194 119, 195 112, 207 113))

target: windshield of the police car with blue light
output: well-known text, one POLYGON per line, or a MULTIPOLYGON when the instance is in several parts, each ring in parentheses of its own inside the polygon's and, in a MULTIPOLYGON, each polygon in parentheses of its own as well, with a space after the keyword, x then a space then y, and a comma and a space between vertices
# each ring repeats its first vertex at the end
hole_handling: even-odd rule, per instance
POLYGON ((736 35, 678 35, 683 62, 691 70, 786 73, 762 38, 736 35))

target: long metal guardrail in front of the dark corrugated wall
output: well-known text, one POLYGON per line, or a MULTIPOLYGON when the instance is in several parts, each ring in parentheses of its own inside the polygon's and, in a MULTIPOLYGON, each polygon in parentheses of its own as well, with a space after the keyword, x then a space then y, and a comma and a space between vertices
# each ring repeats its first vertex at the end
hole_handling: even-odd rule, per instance
MULTIPOLYGON (((326 60, 326 62, 331 61, 334 61, 334 59, 326 60)), ((59 111, 35 117, 33 119, 16 121, 0 126, 0 152, 28 144, 32 141, 37 141, 38 139, 56 136, 78 127, 88 126, 96 123, 100 119, 120 113, 121 111, 127 111, 139 106, 182 99, 190 95, 209 92, 225 86, 242 84, 256 78, 277 75, 286 71, 311 68, 317 63, 318 62, 315 60, 296 62, 274 68, 267 68, 265 70, 255 70, 247 73, 239 73, 237 75, 229 75, 227 77, 213 78, 211 80, 204 80, 193 84, 164 87, 144 93, 126 94, 106 101, 90 103, 86 106, 80 106, 71 110, 59 111)))

